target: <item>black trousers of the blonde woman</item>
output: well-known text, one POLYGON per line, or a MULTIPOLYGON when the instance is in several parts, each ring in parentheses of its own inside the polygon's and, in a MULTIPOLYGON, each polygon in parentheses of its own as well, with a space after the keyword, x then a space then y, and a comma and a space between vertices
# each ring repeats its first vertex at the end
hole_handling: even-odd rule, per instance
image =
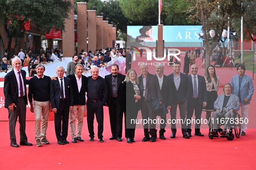
POLYGON ((125 121, 125 137, 134 138, 135 128, 136 128, 136 119, 138 116, 138 111, 128 111, 124 112, 124 121, 125 121), (133 122, 135 120, 135 123, 133 122))

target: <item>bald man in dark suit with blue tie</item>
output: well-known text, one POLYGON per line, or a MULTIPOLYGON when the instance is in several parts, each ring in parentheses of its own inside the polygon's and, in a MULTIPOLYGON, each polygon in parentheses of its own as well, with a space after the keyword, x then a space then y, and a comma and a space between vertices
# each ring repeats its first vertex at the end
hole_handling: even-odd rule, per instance
POLYGON ((190 67, 191 75, 188 76, 188 82, 190 85, 190 96, 188 98, 187 107, 187 132, 191 137, 191 119, 193 113, 195 115, 195 132, 194 135, 204 136, 200 132, 200 120, 203 107, 207 105, 207 89, 203 76, 198 75, 198 66, 193 64, 190 67))

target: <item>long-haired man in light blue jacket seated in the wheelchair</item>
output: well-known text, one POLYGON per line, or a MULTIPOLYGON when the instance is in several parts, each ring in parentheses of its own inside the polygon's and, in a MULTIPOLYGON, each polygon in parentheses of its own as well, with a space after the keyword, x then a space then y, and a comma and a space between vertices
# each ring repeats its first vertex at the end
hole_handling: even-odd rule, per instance
POLYGON ((220 135, 226 135, 227 127, 230 122, 230 118, 233 116, 235 111, 239 110, 239 98, 232 94, 232 87, 230 83, 226 83, 224 85, 223 91, 224 94, 221 94, 216 101, 214 102, 214 113, 212 115, 213 120, 213 131, 211 132, 212 135, 217 135, 217 129, 220 126, 220 122, 224 121, 224 129, 220 132, 220 135))

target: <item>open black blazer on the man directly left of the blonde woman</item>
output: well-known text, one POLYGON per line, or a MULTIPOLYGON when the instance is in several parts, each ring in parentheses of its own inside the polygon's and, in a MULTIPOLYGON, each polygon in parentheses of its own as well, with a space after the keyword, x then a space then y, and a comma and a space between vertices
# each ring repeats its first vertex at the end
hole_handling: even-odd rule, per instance
MULTIPOLYGON (((105 76, 105 80, 107 82, 107 91, 108 91, 108 95, 107 95, 107 105, 110 105, 111 102, 111 75, 109 74, 107 76, 105 76)), ((122 104, 122 85, 123 85, 123 81, 125 79, 125 76, 123 74, 118 73, 117 75, 117 98, 120 104, 122 104)))

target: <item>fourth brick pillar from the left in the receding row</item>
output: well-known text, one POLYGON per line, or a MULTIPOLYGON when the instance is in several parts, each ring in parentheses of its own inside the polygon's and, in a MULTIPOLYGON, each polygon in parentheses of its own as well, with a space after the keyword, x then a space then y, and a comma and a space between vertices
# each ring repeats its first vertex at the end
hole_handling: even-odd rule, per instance
POLYGON ((103 48, 103 16, 96 16, 96 48, 103 48))

